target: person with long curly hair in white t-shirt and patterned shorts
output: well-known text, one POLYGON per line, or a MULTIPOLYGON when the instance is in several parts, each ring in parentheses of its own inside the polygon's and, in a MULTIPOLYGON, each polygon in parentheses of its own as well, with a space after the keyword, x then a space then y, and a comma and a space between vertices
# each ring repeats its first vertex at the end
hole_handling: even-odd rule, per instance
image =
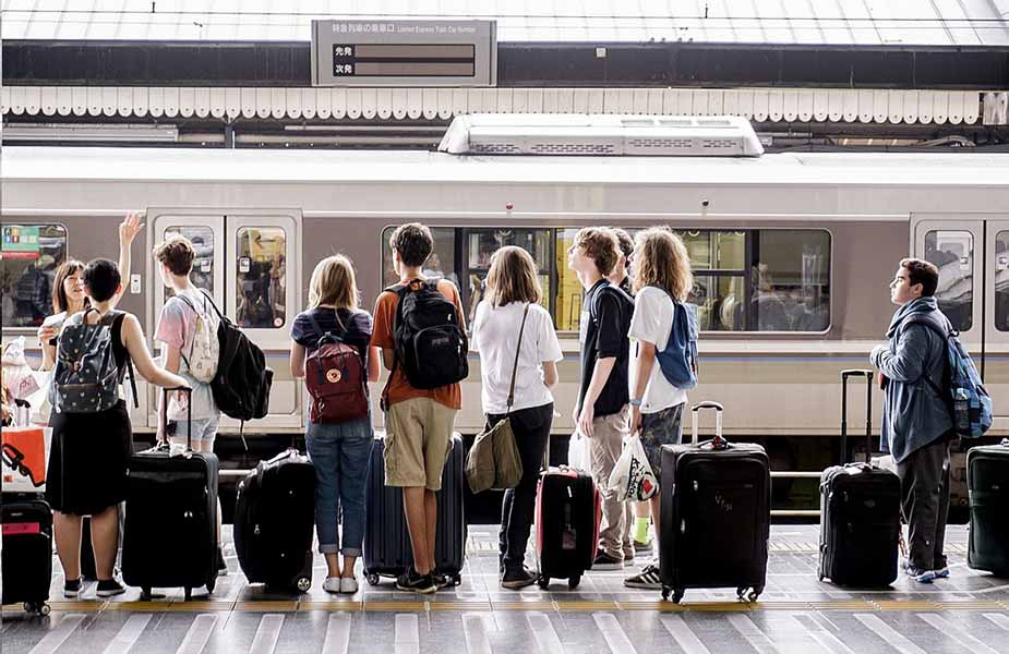
MULTIPOLYGON (((669 383, 656 361, 665 349, 673 329, 675 304, 685 302, 694 286, 690 259, 683 241, 665 227, 653 227, 637 234, 632 270, 635 295, 629 337, 637 341, 630 360, 630 433, 641 438, 645 455, 657 477, 662 474, 661 448, 678 444, 683 433, 683 411, 687 395, 669 383)), ((661 493, 661 489, 660 489, 661 493)), ((651 498, 659 552, 659 493, 651 498)), ((660 589, 659 567, 645 566, 640 573, 624 580, 639 589, 660 589)))

